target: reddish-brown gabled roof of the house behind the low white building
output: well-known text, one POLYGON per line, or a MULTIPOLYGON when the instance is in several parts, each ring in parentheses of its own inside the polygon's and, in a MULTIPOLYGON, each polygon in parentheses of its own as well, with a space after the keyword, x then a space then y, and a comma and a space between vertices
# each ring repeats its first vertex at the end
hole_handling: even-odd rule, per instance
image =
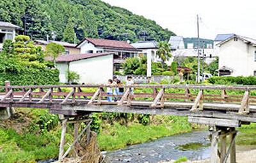
POLYGON ((97 47, 113 47, 113 48, 120 48, 120 49, 136 50, 135 47, 133 47, 127 42, 115 41, 115 40, 104 40, 104 39, 98 39, 98 38, 84 38, 83 41, 77 44, 77 47, 81 45, 81 43, 83 43, 85 40, 87 40, 88 42, 91 42, 93 45, 97 47))

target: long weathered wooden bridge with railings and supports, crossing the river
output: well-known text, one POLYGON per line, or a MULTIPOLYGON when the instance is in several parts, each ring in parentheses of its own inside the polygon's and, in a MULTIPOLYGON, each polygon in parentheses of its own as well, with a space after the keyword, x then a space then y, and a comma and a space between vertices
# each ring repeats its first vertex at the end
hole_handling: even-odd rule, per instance
MULTIPOLYGON (((235 129, 256 122, 256 86, 133 85, 123 86, 124 95, 107 95, 108 87, 115 86, 10 86, 6 82, 0 87, 0 107, 45 108, 66 118, 95 112, 188 116, 191 123, 211 127, 211 162, 219 158, 227 162, 229 156, 231 163, 236 162, 235 129), (108 102, 106 97, 117 100, 108 102)), ((67 119, 63 120, 60 159, 68 154, 63 155, 65 124, 67 119)))

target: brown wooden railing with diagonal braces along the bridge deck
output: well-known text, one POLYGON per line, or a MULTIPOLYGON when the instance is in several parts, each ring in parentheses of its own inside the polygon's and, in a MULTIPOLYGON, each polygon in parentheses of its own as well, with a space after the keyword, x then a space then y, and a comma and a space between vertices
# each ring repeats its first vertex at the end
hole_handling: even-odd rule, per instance
POLYGON ((87 105, 148 105, 148 108, 191 107, 191 111, 205 108, 223 109, 247 114, 256 111, 256 86, 216 85, 132 85, 124 88, 122 95, 107 95, 108 85, 60 85, 60 86, 6 86, 0 87, 0 104, 72 104, 87 105), (113 97, 108 102, 107 97, 113 97), (212 105, 210 105, 212 104, 212 105), (233 104, 233 105, 232 105, 233 104), (236 104, 236 105, 234 105, 236 104), (239 107, 237 108, 237 105, 239 107))

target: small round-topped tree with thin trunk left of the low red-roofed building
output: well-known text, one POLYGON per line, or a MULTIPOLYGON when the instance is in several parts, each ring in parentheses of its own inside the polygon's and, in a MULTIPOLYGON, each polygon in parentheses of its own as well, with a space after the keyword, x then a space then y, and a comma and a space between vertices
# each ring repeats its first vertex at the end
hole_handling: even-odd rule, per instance
POLYGON ((65 52, 65 47, 58 43, 51 42, 45 47, 45 54, 53 59, 54 68, 56 68, 56 58, 63 52, 65 52))

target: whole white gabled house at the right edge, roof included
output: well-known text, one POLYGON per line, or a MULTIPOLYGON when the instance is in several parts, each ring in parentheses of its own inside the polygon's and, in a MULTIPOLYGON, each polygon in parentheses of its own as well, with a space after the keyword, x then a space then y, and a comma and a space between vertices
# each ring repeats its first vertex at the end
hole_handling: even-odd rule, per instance
POLYGON ((234 35, 219 46, 219 75, 256 75, 256 40, 234 35))

